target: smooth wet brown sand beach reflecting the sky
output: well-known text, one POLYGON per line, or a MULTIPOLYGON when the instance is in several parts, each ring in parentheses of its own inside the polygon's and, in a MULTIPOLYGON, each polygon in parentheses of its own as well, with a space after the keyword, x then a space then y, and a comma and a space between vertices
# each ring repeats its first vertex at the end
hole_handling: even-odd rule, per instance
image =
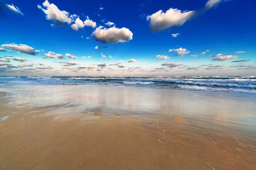
POLYGON ((1 170, 256 169, 255 95, 84 85, 0 91, 1 170))

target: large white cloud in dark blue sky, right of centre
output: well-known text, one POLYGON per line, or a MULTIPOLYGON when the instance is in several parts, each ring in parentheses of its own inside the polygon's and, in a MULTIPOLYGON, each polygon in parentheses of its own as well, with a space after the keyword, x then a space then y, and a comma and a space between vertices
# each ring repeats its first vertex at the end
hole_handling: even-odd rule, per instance
POLYGON ((180 11, 170 8, 166 13, 159 10, 152 15, 148 15, 147 20, 150 20, 151 31, 160 31, 171 26, 183 25, 194 13, 194 11, 180 11))

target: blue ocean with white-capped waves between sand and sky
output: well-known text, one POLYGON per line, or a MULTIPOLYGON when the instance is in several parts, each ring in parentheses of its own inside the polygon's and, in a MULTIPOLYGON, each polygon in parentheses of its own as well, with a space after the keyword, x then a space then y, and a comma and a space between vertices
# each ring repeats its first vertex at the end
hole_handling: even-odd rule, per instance
POLYGON ((0 77, 0 83, 62 84, 166 88, 197 91, 224 91, 256 94, 256 76, 244 77, 0 77))

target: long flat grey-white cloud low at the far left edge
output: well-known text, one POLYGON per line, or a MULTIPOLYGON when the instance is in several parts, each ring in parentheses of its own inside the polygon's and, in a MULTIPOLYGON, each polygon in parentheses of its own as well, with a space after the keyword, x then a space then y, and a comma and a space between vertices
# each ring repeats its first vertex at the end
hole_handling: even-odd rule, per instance
POLYGON ((10 50, 16 51, 18 53, 30 54, 30 55, 37 55, 39 52, 38 50, 34 50, 34 48, 25 44, 15 44, 15 43, 2 44, 2 47, 9 48, 10 50))

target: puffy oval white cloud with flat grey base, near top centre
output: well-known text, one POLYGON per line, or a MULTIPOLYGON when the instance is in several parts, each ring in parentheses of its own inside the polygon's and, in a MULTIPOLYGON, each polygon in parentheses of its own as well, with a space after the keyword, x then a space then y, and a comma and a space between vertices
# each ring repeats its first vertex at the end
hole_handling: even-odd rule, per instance
POLYGON ((127 42, 132 40, 133 33, 128 28, 103 28, 99 26, 93 31, 93 37, 100 42, 127 42))

